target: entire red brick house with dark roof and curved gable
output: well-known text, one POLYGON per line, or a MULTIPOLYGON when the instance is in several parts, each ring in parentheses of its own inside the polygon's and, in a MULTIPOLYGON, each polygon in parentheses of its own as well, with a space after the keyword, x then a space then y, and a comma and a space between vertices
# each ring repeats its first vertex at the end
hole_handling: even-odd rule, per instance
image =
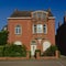
POLYGON ((8 18, 9 43, 25 45, 31 55, 55 45, 55 16, 51 10, 19 11, 8 18))

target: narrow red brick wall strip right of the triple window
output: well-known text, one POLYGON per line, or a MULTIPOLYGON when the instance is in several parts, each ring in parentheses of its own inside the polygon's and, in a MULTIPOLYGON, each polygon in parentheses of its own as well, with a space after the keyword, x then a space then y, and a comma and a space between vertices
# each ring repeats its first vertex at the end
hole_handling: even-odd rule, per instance
POLYGON ((55 20, 48 20, 48 40, 55 44, 55 20))

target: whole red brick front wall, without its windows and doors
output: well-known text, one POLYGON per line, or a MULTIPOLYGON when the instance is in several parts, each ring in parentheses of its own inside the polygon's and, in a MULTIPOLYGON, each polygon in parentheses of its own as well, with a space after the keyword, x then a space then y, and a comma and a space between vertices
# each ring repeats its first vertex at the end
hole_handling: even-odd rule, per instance
MULTIPOLYGON (((38 22, 37 22, 38 23, 38 22)), ((55 20, 47 20, 47 22, 42 22, 42 24, 47 24, 47 34, 38 34, 38 36, 46 38, 52 44, 55 44, 55 20)), ((28 50, 31 47, 31 41, 38 37, 37 34, 32 33, 32 20, 8 20, 8 31, 9 31, 9 43, 14 43, 15 41, 22 42, 28 50), (15 35, 14 28, 15 25, 22 26, 22 34, 15 35)), ((42 41, 43 44, 44 40, 42 41)), ((36 40, 37 43, 37 40, 36 40)), ((42 44, 37 44, 37 48, 43 48, 42 44)))

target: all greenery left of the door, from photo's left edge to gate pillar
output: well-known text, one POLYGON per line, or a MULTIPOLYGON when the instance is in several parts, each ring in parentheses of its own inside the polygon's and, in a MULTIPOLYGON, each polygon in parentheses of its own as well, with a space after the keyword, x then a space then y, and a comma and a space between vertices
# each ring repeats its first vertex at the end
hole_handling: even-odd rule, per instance
POLYGON ((26 48, 24 45, 3 45, 0 46, 0 57, 25 57, 26 48))

